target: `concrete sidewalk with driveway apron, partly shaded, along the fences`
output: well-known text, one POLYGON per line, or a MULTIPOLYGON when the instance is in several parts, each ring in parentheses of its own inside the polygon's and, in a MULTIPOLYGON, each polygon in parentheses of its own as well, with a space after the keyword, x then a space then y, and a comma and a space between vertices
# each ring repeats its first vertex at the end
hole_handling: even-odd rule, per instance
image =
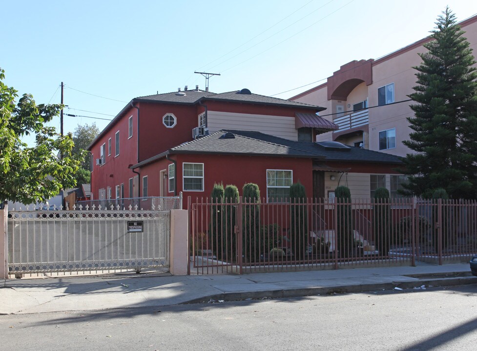
POLYGON ((167 306, 212 300, 476 284, 469 264, 244 275, 116 274, 0 280, 0 314, 167 306))

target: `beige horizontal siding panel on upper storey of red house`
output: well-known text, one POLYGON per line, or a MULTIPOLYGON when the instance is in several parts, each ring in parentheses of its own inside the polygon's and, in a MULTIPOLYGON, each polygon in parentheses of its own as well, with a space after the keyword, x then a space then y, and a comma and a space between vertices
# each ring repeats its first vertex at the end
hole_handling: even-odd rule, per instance
POLYGON ((275 137, 298 140, 294 117, 208 111, 207 127, 210 133, 221 129, 235 129, 262 132, 275 137))

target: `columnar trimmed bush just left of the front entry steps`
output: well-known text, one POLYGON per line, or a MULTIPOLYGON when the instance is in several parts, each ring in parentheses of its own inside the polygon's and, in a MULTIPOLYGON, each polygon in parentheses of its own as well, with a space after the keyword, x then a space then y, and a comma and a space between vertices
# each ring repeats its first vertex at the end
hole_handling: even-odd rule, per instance
POLYGON ((337 248, 342 257, 348 257, 353 245, 353 217, 351 213, 351 192, 345 186, 334 190, 336 201, 336 216, 338 223, 336 233, 338 236, 337 248))

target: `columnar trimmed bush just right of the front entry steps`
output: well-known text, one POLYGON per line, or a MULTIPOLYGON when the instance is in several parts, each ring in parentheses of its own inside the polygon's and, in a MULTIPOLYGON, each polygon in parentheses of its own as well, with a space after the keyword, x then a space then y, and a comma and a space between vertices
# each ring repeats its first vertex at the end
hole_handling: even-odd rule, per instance
POLYGON ((379 255, 387 256, 391 238, 393 237, 393 225, 391 206, 389 201, 389 191, 386 188, 377 188, 374 192, 374 247, 379 251, 379 255))

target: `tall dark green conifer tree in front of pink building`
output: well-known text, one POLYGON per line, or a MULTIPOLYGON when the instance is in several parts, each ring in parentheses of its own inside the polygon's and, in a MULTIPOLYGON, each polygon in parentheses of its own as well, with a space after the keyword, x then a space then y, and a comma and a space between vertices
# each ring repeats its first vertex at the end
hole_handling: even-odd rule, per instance
POLYGON ((443 188, 451 198, 477 196, 476 61, 455 15, 446 8, 437 19, 432 41, 419 54, 416 104, 409 117, 413 132, 403 141, 415 154, 404 159, 407 194, 431 198, 443 188))

